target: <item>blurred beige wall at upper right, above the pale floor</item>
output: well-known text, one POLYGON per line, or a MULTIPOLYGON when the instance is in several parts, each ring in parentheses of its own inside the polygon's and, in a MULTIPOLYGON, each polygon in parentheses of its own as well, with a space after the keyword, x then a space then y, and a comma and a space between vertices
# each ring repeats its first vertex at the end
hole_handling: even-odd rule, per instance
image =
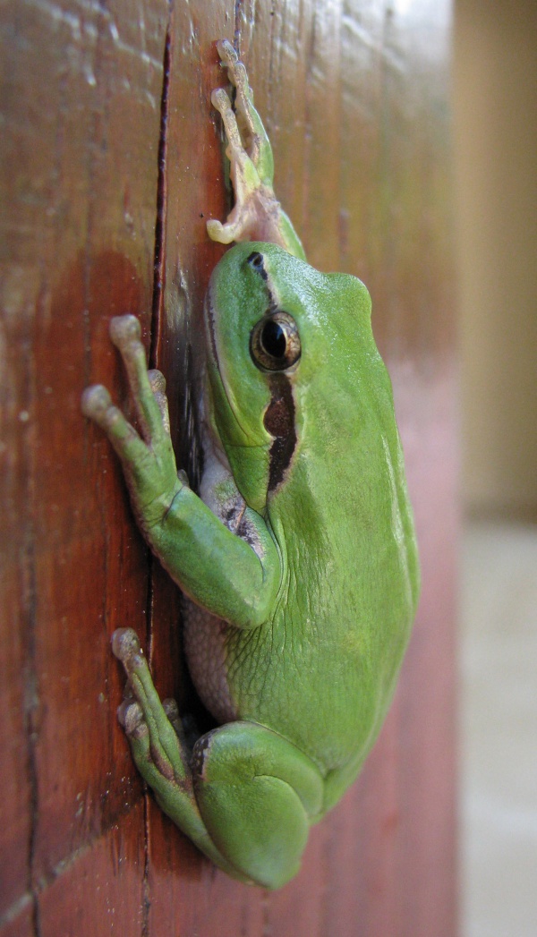
POLYGON ((537 0, 455 3, 463 494, 537 513, 537 0))

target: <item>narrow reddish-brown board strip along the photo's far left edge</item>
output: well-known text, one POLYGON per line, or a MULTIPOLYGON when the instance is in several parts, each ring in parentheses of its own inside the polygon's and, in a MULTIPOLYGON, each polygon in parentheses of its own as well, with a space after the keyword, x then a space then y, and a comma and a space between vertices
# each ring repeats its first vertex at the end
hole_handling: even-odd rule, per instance
POLYGON ((32 907, 26 889, 30 885, 29 854, 34 790, 30 779, 27 738, 34 687, 27 671, 28 629, 33 615, 35 587, 30 572, 32 517, 29 503, 28 447, 32 441, 29 420, 28 292, 38 290, 38 276, 13 269, 11 251, 22 248, 26 218, 23 210, 10 205, 20 190, 17 166, 25 132, 13 82, 14 59, 18 53, 17 24, 13 9, 0 12, 0 55, 2 86, 3 158, 2 203, 5 214, 0 238, 0 489, 2 528, 0 541, 0 640, 3 679, 0 706, 0 776, 3 823, 0 827, 0 921, 11 933, 31 926, 32 907), (11 14, 11 16, 9 15, 11 14), (12 50, 10 52, 10 50, 12 50), (7 209, 7 211, 6 211, 7 209), (16 916, 9 915, 15 907, 16 916))

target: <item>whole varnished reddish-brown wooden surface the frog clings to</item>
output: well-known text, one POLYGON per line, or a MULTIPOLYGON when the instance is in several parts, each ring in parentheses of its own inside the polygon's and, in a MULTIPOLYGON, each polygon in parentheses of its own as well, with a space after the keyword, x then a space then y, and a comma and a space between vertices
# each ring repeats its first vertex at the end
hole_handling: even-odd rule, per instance
POLYGON ((449 0, 19 0, 2 37, 1 937, 454 937, 454 288, 449 0), (174 587, 83 387, 125 401, 142 320, 196 462, 189 343, 228 203, 214 41, 235 37, 308 259, 361 276, 393 376, 424 572, 395 705, 279 893, 231 882, 143 795, 114 628, 192 705, 174 587), (155 271, 155 275, 154 275, 155 271))

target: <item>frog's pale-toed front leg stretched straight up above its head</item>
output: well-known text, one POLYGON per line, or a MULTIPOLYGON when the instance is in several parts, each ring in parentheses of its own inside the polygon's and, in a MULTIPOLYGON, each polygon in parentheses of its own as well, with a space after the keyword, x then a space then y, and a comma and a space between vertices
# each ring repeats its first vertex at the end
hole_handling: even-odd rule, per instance
POLYGON ((263 241, 280 245, 294 257, 306 260, 300 238, 276 200, 272 147, 254 107, 246 68, 227 39, 218 42, 217 49, 236 88, 236 115, 223 88, 217 88, 211 96, 228 139, 226 153, 231 163, 235 205, 224 224, 214 218, 208 221, 207 231, 214 241, 221 244, 263 241))

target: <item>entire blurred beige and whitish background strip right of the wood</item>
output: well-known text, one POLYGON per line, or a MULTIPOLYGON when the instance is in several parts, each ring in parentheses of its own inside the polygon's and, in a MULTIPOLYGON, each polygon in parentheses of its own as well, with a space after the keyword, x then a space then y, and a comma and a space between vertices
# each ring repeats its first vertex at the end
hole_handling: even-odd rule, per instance
POLYGON ((464 937, 537 934, 537 3, 455 0, 464 937))

